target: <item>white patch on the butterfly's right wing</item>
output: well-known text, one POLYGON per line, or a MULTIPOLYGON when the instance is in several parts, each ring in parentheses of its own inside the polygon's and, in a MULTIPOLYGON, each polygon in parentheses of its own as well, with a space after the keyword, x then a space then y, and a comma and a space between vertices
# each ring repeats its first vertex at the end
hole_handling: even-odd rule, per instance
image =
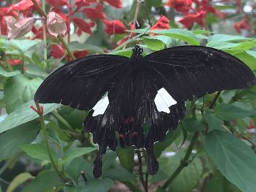
POLYGON ((165 90, 165 88, 157 91, 157 96, 154 99, 154 103, 157 106, 159 112, 170 113, 169 107, 177 104, 177 101, 165 90))

